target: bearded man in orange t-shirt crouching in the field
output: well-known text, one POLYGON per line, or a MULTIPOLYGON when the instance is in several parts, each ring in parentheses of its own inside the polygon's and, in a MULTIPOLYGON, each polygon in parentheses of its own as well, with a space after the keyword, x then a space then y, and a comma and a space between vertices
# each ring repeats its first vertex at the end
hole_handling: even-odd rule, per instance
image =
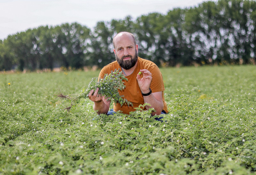
POLYGON ((116 61, 101 69, 99 79, 103 78, 105 74, 110 74, 111 70, 122 70, 128 82, 125 82, 124 85, 126 87, 123 91, 119 91, 119 94, 124 95, 125 99, 132 102, 133 107, 127 106, 127 104, 121 106, 116 103, 114 111, 108 111, 110 101, 98 94, 99 89, 97 88, 94 93, 94 90, 91 90, 88 94, 89 99, 94 102, 93 109, 99 115, 109 115, 119 110, 124 114, 129 114, 129 112, 135 111, 134 107, 148 103, 150 106, 146 106, 147 110, 149 108, 156 110, 151 115, 168 113, 167 105, 164 101, 162 74, 152 61, 138 57, 138 44, 136 44, 133 34, 120 32, 113 38, 113 44, 116 61), (142 74, 139 75, 139 72, 142 72, 142 74))

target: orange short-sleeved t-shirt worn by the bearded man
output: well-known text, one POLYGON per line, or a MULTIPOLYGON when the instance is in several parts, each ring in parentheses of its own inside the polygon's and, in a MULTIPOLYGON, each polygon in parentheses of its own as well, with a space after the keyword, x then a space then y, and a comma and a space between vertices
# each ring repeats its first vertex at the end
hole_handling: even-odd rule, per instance
MULTIPOLYGON (((115 69, 120 69, 120 71, 122 70, 117 61, 114 61, 103 67, 100 71, 99 79, 103 78, 105 74, 110 74, 111 70, 114 71, 115 69)), ((116 103, 114 105, 114 111, 120 110, 124 114, 129 114, 129 112, 135 111, 135 107, 139 107, 140 104, 144 104, 144 98, 141 94, 140 87, 136 79, 137 74, 140 72, 140 69, 147 69, 152 74, 150 89, 152 90, 152 93, 162 91, 162 99, 164 103, 163 110, 168 113, 167 105, 164 101, 164 82, 162 73, 160 72, 159 68, 156 66, 155 63, 149 60, 142 59, 140 57, 138 57, 138 64, 133 73, 129 76, 125 76, 125 78, 128 79, 128 82, 124 81, 124 90, 119 90, 119 94, 121 96, 124 95, 125 99, 132 102, 133 107, 128 106, 127 104, 121 106, 119 103, 116 103)))

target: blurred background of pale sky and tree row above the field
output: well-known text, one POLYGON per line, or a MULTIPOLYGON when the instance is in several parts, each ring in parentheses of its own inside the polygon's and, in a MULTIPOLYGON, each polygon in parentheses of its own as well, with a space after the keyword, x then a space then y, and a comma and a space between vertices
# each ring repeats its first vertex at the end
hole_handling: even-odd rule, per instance
POLYGON ((159 67, 255 65, 254 0, 174 2, 0 0, 0 71, 102 68, 120 31, 159 67))

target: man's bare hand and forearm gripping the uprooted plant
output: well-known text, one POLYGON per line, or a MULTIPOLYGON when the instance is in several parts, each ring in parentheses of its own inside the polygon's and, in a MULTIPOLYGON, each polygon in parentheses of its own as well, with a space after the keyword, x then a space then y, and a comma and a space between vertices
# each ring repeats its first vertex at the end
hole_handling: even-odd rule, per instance
POLYGON ((90 100, 93 101, 93 109, 97 111, 97 114, 107 114, 110 106, 110 101, 98 94, 99 88, 93 93, 93 89, 88 94, 90 100), (92 95, 93 93, 93 95, 92 95))

